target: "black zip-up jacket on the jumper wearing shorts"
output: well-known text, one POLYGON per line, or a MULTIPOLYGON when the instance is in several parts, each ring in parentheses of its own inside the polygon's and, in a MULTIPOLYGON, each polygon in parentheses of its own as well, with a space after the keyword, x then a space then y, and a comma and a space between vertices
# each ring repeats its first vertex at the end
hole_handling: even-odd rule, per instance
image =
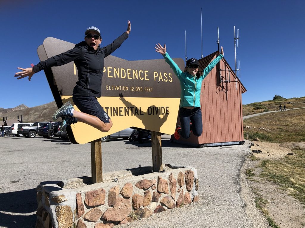
POLYGON ((124 32, 106 47, 99 46, 96 51, 82 41, 71 50, 39 62, 33 67, 33 71, 37 73, 47 67, 57 67, 74 61, 78 81, 73 89, 73 95, 101 97, 104 58, 119 48, 127 38, 128 34, 124 32))

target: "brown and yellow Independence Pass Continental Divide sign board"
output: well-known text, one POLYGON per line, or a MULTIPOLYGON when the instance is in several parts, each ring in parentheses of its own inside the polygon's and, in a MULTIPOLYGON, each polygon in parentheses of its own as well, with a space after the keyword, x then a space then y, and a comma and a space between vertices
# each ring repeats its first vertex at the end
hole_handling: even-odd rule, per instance
MULTIPOLYGON (((74 48, 75 44, 48 37, 38 47, 40 60, 74 48)), ((153 51, 153 50, 152 50, 153 51)), ((160 55, 159 55, 160 56, 160 55)), ((184 61, 174 59, 180 69, 184 61)), ((180 82, 164 59, 128 61, 115 56, 105 58, 102 97, 99 103, 113 121, 109 132, 103 133, 84 123, 67 128, 73 143, 88 143, 128 127, 173 134, 176 127, 180 82)), ((72 101, 78 80, 74 63, 45 69, 56 105, 72 101)), ((77 107, 74 105, 76 110, 77 107)))

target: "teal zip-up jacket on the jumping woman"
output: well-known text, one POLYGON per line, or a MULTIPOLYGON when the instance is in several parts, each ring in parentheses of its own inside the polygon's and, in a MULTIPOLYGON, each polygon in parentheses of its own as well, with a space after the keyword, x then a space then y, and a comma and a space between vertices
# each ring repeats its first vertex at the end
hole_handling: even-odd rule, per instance
POLYGON ((200 92, 202 81, 224 56, 222 54, 218 55, 205 69, 203 69, 203 75, 201 75, 200 78, 197 78, 196 75, 194 77, 188 72, 182 72, 167 52, 163 57, 179 78, 181 86, 180 107, 201 107, 200 92))

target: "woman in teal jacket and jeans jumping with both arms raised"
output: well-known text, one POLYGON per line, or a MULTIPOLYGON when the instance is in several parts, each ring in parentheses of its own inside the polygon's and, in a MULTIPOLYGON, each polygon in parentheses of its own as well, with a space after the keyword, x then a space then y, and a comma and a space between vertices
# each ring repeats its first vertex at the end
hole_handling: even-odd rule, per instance
POLYGON ((199 69, 199 62, 195 58, 190 58, 186 62, 187 70, 182 72, 178 65, 170 58, 166 52, 166 45, 164 47, 160 43, 156 44, 156 52, 163 55, 165 61, 170 65, 180 81, 181 97, 179 118, 181 126, 177 126, 174 133, 176 140, 180 136, 184 139, 189 138, 191 131, 194 135, 200 136, 202 134, 202 114, 200 105, 201 84, 203 79, 210 73, 215 65, 224 57, 224 49, 221 47, 221 54, 219 54, 206 68, 199 69))

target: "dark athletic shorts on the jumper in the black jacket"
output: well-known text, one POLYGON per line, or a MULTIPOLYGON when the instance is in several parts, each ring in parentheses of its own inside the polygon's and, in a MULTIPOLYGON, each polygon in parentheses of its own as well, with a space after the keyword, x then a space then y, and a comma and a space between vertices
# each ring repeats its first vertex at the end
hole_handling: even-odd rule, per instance
POLYGON ((74 104, 81 112, 96 116, 104 123, 110 123, 109 116, 94 96, 84 97, 73 95, 72 99, 74 104))

